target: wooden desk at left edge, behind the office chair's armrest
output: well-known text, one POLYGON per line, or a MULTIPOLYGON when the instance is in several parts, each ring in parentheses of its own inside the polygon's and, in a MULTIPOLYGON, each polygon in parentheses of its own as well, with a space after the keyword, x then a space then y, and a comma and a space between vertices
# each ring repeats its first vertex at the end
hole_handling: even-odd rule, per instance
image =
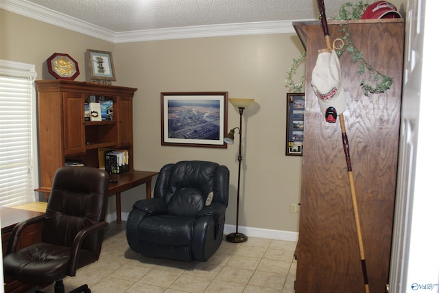
MULTIPOLYGON (((14 226, 24 220, 34 218, 37 215, 42 215, 39 211, 26 211, 24 209, 12 209, 9 207, 0 207, 1 216, 1 245, 3 249, 3 256, 8 248, 8 243, 14 226)), ((27 226, 21 233, 17 249, 41 242, 41 230, 43 222, 27 226)), ((26 292, 34 285, 21 283, 20 281, 5 277, 5 292, 26 292)))

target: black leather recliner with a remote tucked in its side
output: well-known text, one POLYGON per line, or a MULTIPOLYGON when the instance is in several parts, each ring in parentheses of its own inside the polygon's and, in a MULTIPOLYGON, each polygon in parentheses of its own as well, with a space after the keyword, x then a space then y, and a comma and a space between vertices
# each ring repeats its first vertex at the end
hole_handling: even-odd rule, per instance
POLYGON ((206 161, 162 167, 154 198, 134 203, 126 224, 132 250, 147 257, 206 261, 222 242, 229 171, 206 161))

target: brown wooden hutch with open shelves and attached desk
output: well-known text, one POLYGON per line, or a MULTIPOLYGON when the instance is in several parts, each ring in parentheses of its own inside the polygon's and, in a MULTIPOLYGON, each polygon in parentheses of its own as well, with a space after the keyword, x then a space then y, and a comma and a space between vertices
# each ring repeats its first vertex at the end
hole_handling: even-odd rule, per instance
POLYGON ((146 184, 151 197, 152 177, 158 172, 134 171, 132 142, 132 98, 137 89, 74 82, 70 80, 37 80, 38 145, 40 188, 46 199, 54 175, 66 161, 80 161, 86 166, 99 164, 99 149, 128 150, 128 172, 112 174, 108 195, 116 195, 117 222, 121 222, 121 192, 146 184), (112 101, 112 119, 86 121, 84 104, 112 101))

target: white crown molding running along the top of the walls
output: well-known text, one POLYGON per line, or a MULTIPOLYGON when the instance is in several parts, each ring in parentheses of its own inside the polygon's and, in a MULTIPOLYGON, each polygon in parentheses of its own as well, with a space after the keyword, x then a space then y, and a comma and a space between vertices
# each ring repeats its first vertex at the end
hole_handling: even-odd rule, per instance
POLYGON ((232 23, 174 27, 157 30, 137 30, 132 32, 113 32, 25 0, 0 0, 0 8, 73 32, 79 32, 80 34, 106 40, 110 43, 132 43, 178 38, 208 38, 215 36, 244 36, 252 34, 295 34, 294 27, 292 26, 293 21, 232 23))

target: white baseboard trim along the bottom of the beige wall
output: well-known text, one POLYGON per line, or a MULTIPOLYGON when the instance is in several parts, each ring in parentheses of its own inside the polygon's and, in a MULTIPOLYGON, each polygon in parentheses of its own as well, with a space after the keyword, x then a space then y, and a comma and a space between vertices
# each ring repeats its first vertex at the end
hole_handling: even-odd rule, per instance
MULTIPOLYGON (((121 213, 122 221, 126 221, 128 219, 128 213, 121 213)), ((116 212, 110 213, 106 217, 107 222, 115 222, 117 220, 116 212)), ((235 225, 224 225, 224 234, 233 233, 236 231, 235 225)), ((281 231, 281 230, 272 230, 272 229, 264 229, 264 228, 254 228, 254 227, 246 227, 239 226, 238 231, 240 233, 246 234, 248 237, 259 237, 259 238, 269 238, 276 240, 286 240, 297 242, 299 238, 298 232, 291 231, 281 231)))

